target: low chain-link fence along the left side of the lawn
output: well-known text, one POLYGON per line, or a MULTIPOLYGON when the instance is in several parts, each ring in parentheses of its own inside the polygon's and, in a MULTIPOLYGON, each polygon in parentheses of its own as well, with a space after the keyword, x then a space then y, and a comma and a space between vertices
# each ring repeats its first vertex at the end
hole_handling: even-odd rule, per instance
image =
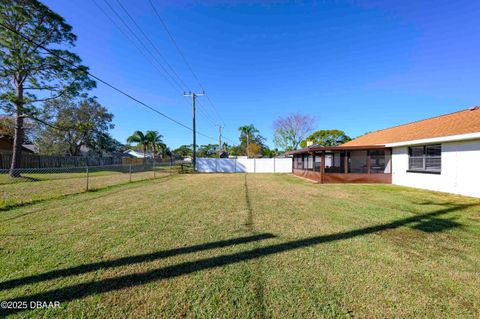
POLYGON ((0 169, 0 211, 9 207, 177 173, 181 162, 0 169))

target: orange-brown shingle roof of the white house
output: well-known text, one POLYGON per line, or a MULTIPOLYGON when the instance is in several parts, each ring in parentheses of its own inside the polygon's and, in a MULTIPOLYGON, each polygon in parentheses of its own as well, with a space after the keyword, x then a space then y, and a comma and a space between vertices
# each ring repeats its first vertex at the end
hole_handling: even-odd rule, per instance
POLYGON ((367 133, 342 146, 385 145, 480 132, 480 107, 367 133))

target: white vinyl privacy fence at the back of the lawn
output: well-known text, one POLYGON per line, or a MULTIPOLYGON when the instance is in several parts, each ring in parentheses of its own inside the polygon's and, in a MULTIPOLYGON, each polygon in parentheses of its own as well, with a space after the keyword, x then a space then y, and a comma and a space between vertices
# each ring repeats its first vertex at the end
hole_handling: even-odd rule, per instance
POLYGON ((201 173, 291 173, 291 158, 197 158, 201 173))

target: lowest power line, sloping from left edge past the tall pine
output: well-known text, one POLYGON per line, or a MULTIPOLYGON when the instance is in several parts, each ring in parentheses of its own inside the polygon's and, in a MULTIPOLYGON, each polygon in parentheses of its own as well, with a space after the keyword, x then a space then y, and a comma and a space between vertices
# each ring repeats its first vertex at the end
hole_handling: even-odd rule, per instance
MULTIPOLYGON (((113 84, 110 84, 109 82, 107 82, 107 81, 101 79, 100 77, 92 74, 91 72, 89 72, 89 71, 87 71, 87 70, 85 70, 85 69, 83 69, 83 68, 80 68, 80 67, 77 66, 75 63, 73 63, 73 62, 71 62, 70 60, 68 60, 68 59, 66 59, 66 58, 58 55, 57 53, 55 53, 55 52, 52 51, 51 49, 45 47, 44 45, 42 45, 42 44, 40 44, 40 43, 36 43, 35 41, 33 41, 33 40, 30 39, 29 37, 23 35, 22 33, 18 32, 17 30, 10 28, 9 26, 5 25, 5 24, 2 23, 2 22, 0 22, 0 26, 3 27, 3 28, 6 29, 6 30, 12 32, 12 33, 15 33, 16 35, 20 36, 21 38, 23 38, 24 40, 28 41, 29 43, 37 46, 38 48, 43 49, 44 51, 48 52, 50 55, 52 55, 52 56, 54 56, 54 57, 56 57, 56 58, 64 61, 65 63, 67 63, 67 64, 69 64, 69 65, 71 65, 71 66, 73 66, 73 67, 76 68, 77 70, 80 70, 81 72, 84 72, 85 74, 87 74, 87 75, 90 76, 91 78, 99 81, 100 83, 103 83, 104 85, 106 85, 106 86, 108 86, 109 88, 117 91, 118 93, 120 93, 120 94, 128 97, 129 99, 137 102, 138 104, 140 104, 140 105, 148 108, 148 109, 151 110, 152 112, 157 113, 158 115, 166 118, 167 120, 169 120, 169 121, 171 121, 171 122, 173 122, 173 123, 175 123, 175 124, 177 124, 177 125, 179 125, 179 126, 182 126, 182 127, 186 128, 187 130, 193 131, 193 129, 192 129, 191 127, 189 127, 189 126, 187 126, 187 125, 185 125, 185 124, 177 121, 176 119, 174 119, 174 118, 166 115, 166 114, 163 113, 163 112, 160 112, 159 110, 155 109, 154 107, 152 107, 152 106, 148 105, 147 103, 142 102, 141 100, 133 97, 133 96, 130 95, 129 93, 126 93, 125 91, 117 88, 117 87, 114 86, 113 84)), ((212 140, 214 140, 214 141, 216 141, 216 138, 213 138, 213 137, 208 136, 208 135, 206 135, 206 134, 203 134, 203 133, 200 133, 200 132, 198 132, 198 134, 199 134, 199 135, 202 135, 202 136, 204 136, 204 137, 207 137, 207 138, 209 138, 209 139, 212 139, 212 140)))

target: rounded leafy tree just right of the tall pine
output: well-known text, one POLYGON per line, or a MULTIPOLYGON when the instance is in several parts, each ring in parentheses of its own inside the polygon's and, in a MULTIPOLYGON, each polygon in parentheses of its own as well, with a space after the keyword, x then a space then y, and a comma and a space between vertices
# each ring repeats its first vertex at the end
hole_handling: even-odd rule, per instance
POLYGON ((73 100, 60 97, 44 103, 40 116, 48 126, 38 131, 36 143, 41 153, 50 155, 80 155, 83 146, 101 154, 112 142, 108 130, 113 129, 113 114, 95 97, 82 95, 73 100))

